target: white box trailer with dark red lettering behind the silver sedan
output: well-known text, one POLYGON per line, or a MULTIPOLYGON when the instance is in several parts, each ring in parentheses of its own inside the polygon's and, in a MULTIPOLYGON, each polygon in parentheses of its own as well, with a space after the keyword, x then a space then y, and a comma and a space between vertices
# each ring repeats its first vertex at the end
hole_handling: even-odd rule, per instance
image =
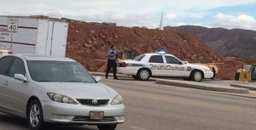
POLYGON ((68 23, 0 16, 0 42, 14 54, 66 55, 68 23))

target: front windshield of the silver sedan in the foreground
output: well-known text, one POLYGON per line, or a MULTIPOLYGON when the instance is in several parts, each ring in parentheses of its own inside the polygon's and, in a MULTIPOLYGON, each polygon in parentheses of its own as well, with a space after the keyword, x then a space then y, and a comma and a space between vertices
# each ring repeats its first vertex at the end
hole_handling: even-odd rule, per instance
POLYGON ((37 82, 96 82, 77 62, 29 60, 27 66, 32 80, 37 82))

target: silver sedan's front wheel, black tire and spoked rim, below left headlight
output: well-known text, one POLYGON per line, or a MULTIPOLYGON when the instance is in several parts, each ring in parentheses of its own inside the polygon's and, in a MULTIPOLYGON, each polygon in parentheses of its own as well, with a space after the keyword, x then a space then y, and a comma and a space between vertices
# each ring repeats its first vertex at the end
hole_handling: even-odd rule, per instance
POLYGON ((26 109, 26 121, 32 130, 44 129, 43 110, 38 99, 32 100, 26 109))

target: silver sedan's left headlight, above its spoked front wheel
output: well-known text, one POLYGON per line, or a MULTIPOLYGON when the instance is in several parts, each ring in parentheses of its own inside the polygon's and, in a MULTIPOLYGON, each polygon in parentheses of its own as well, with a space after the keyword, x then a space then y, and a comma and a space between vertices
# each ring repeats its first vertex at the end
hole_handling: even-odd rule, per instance
POLYGON ((74 101, 73 99, 71 99, 65 95, 61 95, 59 93, 47 93, 47 95, 48 95, 49 99, 51 99, 55 102, 78 105, 78 103, 76 101, 74 101))

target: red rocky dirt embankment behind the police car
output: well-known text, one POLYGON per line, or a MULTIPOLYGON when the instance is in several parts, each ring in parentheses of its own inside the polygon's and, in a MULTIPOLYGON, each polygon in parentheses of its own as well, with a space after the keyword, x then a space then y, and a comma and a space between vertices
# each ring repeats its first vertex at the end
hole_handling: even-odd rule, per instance
POLYGON ((120 51, 131 50, 136 55, 154 53, 158 48, 166 48, 169 54, 189 62, 221 62, 211 48, 193 34, 177 31, 159 31, 143 28, 118 27, 115 25, 93 25, 74 21, 69 23, 67 56, 77 59, 89 71, 96 71, 107 59, 111 44, 120 51), (111 42, 110 44, 107 42, 111 42))

